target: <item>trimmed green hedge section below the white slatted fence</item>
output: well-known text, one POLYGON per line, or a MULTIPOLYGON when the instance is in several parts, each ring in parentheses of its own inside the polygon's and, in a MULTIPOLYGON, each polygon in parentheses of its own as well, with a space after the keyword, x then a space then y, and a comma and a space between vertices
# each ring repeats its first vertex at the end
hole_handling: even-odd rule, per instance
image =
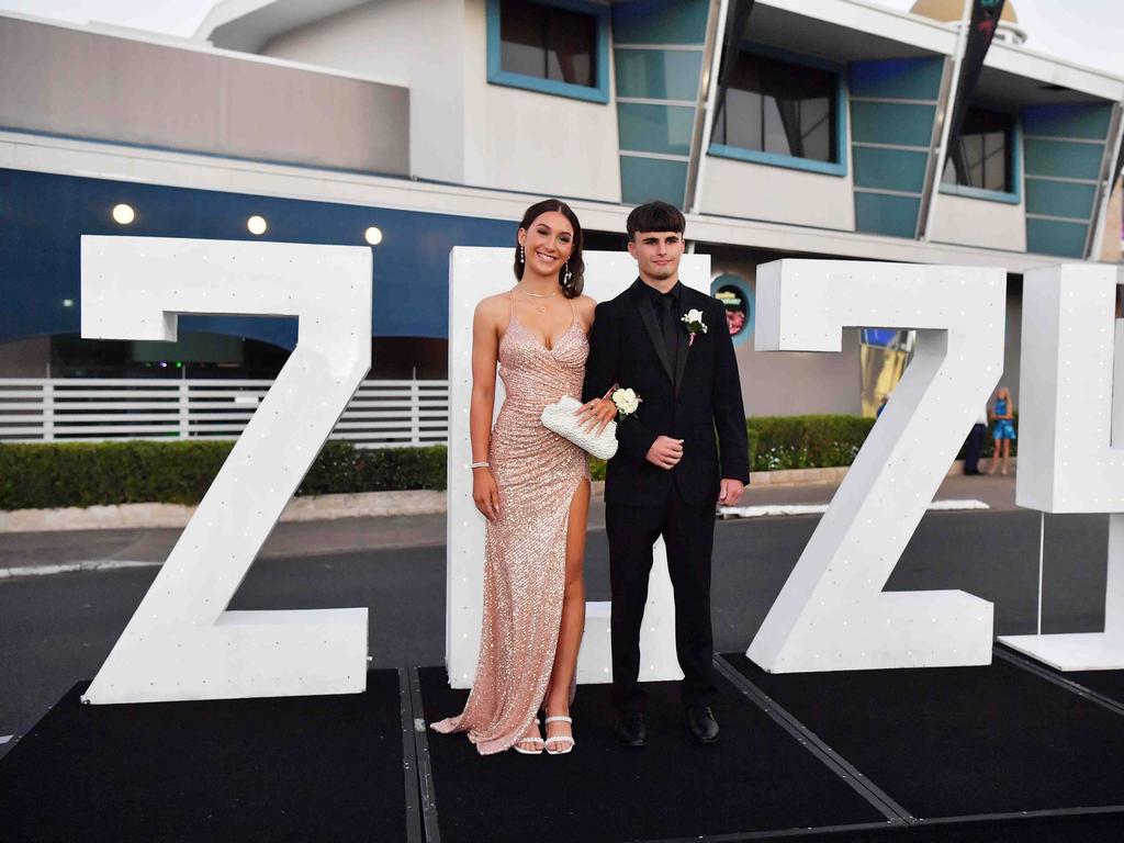
MULTIPOLYGON (((233 442, 0 444, 0 509, 198 504, 233 442)), ((329 442, 297 495, 444 489, 445 447, 356 448, 329 442)))

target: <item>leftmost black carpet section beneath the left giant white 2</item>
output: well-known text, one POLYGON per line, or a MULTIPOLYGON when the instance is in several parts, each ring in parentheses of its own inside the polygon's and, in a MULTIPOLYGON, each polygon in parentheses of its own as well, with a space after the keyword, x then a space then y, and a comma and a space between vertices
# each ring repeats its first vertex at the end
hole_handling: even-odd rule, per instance
POLYGON ((84 706, 88 686, 0 761, 0 840, 420 839, 399 671, 330 697, 84 706))

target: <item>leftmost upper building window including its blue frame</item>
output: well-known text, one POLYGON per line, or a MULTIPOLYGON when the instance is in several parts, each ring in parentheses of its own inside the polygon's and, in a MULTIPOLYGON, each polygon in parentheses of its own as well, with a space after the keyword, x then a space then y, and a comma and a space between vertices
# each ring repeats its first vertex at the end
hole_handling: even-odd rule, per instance
POLYGON ((488 81, 608 102, 609 11, 583 0, 489 0, 488 81))

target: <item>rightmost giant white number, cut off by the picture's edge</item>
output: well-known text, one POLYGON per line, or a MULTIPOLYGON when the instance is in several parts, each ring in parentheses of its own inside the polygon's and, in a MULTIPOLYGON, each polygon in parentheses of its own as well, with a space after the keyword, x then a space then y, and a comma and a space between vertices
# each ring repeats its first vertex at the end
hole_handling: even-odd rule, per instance
POLYGON ((1109 513, 1105 631, 999 640, 1059 670, 1124 668, 1124 320, 1115 266, 1023 278, 1015 501, 1043 513, 1109 513), (1115 323, 1115 324, 1114 324, 1115 323))

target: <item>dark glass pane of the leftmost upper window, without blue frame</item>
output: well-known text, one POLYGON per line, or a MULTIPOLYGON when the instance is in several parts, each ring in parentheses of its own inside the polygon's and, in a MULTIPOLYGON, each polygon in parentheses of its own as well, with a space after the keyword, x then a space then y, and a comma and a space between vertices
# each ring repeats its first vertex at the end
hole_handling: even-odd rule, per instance
POLYGON ((500 69, 597 88, 597 18, 525 0, 502 0, 500 69))

